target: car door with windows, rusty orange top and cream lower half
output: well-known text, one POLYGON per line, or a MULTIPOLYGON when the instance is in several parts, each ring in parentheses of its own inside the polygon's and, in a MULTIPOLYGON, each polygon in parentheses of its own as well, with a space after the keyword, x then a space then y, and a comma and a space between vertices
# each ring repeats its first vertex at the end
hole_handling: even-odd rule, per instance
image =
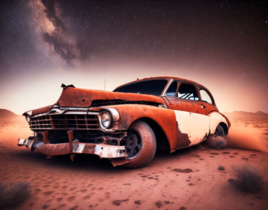
POLYGON ((173 80, 164 97, 175 112, 177 121, 176 149, 198 144, 209 133, 209 119, 194 83, 173 80))

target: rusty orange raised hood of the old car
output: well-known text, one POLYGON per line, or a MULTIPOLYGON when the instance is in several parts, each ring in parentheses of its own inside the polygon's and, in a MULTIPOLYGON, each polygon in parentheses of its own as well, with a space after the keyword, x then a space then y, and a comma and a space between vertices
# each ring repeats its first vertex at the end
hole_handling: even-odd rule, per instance
MULTIPOLYGON (((105 101, 145 101, 155 104, 165 104, 163 98, 154 95, 143 95, 137 93, 122 93, 122 92, 110 92, 103 90, 90 90, 74 87, 63 87, 63 91, 59 100, 55 104, 67 107, 91 107, 92 101, 105 100, 105 101)), ((54 105, 54 104, 53 104, 54 105)), ((32 112, 31 115, 36 115, 43 112, 48 112, 53 107, 45 106, 39 109, 33 109, 27 112, 32 112)), ((110 105, 110 104, 107 104, 110 105)), ((25 112, 23 115, 27 115, 25 112)))

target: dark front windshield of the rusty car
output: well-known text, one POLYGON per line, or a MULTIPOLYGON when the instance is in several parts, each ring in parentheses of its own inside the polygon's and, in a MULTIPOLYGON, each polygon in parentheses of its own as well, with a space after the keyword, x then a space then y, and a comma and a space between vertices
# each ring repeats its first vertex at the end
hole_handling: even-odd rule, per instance
POLYGON ((167 83, 168 81, 165 79, 145 80, 119 87, 113 92, 132 92, 159 96, 163 92, 167 83))

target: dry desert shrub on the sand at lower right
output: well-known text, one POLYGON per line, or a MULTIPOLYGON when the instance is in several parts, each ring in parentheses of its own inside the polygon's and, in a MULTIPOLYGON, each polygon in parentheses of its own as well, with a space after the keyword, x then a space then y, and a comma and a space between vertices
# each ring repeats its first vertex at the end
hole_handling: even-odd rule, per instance
POLYGON ((243 191, 256 192, 261 190, 265 183, 265 174, 255 166, 244 164, 232 165, 232 184, 243 191))

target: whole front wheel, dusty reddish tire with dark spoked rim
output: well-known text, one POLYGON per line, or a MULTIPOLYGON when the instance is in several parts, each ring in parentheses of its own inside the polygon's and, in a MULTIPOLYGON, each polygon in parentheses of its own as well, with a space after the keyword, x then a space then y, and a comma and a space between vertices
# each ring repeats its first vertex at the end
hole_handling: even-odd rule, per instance
POLYGON ((146 123, 138 120, 130 125, 127 136, 124 144, 129 156, 125 159, 130 162, 123 166, 129 168, 146 166, 156 153, 156 138, 153 130, 146 123))

